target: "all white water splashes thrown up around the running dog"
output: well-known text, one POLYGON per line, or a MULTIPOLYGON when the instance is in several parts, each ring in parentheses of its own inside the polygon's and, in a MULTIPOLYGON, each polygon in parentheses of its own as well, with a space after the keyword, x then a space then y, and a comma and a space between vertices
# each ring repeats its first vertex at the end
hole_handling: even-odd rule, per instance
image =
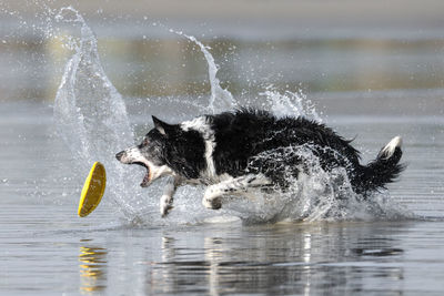
MULTIPOLYGON (((109 182, 107 200, 112 200, 133 225, 163 225, 199 223, 214 215, 240 216, 244 221, 269 222, 282 220, 352 220, 367 217, 395 217, 403 213, 392 206, 387 195, 376 195, 363 202, 354 194, 344 169, 325 172, 310 149, 287 147, 284 154, 273 151, 258 157, 290 157, 297 155, 310 163, 310 171, 289 182, 285 192, 264 194, 258 192, 253 201, 233 198, 220 212, 204 210, 201 205, 202 188, 184 186, 178 191, 175 208, 168 220, 161 220, 158 197, 163 181, 149 188, 140 188, 138 182, 143 172, 123 166, 114 159, 115 152, 133 142, 122 96, 107 78, 97 50, 97 39, 83 18, 72 8, 63 8, 57 20, 80 27, 80 38, 65 39, 65 47, 73 51, 60 83, 54 105, 54 122, 59 134, 68 143, 79 174, 85 174, 93 161, 104 163, 109 182), (154 198, 150 198, 154 196, 154 198)), ((236 106, 232 94, 220 86, 218 67, 213 57, 194 37, 175 32, 198 44, 209 65, 211 98, 208 110, 218 113, 236 106)), ((301 92, 280 93, 273 86, 260 95, 266 108, 279 116, 303 115, 322 121, 313 104, 301 92)))

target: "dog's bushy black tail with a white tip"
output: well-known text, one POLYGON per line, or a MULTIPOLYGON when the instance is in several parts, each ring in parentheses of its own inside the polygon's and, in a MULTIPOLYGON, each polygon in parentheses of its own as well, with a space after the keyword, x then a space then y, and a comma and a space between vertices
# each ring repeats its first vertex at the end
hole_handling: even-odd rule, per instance
POLYGON ((376 160, 370 162, 363 167, 359 180, 362 192, 384 188, 386 184, 394 182, 395 178, 405 169, 404 164, 400 164, 402 156, 402 139, 395 136, 390 141, 376 156, 376 160))

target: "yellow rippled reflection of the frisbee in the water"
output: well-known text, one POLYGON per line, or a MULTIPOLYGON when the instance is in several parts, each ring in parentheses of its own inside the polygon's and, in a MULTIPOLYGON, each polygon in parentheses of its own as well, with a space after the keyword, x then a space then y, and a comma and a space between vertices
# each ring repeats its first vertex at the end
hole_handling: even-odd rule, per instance
POLYGON ((107 254, 102 247, 80 247, 80 293, 88 295, 107 287, 107 254))

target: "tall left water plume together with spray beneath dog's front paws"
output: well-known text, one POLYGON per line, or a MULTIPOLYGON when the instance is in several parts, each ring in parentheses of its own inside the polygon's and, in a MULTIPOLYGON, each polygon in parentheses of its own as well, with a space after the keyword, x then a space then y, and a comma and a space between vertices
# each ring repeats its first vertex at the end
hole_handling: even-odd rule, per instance
MULTIPOLYGON (((160 217, 159 197, 164 181, 141 188, 134 180, 142 178, 142 170, 122 165, 114 157, 133 143, 134 135, 124 101, 101 67, 94 33, 71 7, 61 9, 56 19, 71 29, 80 27, 80 37, 63 37, 63 47, 73 54, 65 64, 53 110, 56 127, 71 151, 75 174, 87 175, 94 161, 102 162, 108 177, 103 202, 112 201, 131 225, 183 224, 210 216, 211 212, 202 208, 198 198, 190 204, 178 198, 180 206, 172 218, 160 217)), ((189 196, 198 196, 200 192, 184 187, 179 194, 190 200, 189 196)))

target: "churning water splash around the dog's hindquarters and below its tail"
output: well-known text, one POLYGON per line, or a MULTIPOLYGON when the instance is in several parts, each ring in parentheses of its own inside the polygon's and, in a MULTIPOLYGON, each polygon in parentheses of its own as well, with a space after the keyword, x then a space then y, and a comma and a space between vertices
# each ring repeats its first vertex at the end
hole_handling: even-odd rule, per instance
MULTIPOLYGON (((354 193, 346 170, 336 167, 324 171, 310 144, 266 151, 255 159, 304 160, 304 167, 296 176, 289 167, 285 191, 274 188, 272 193, 255 192, 253 201, 233 200, 229 207, 248 222, 280 221, 350 221, 398 220, 412 217, 403 206, 394 202, 387 192, 375 193, 367 198, 354 193)), ((254 163, 254 160, 252 161, 254 163)), ((276 167, 278 169, 278 167, 276 167)))

